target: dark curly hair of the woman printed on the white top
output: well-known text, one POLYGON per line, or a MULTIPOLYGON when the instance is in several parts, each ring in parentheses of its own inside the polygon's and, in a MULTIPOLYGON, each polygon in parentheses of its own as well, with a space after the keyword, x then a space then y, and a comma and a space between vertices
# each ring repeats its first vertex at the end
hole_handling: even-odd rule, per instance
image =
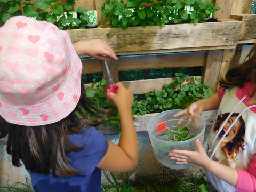
MULTIPOLYGON (((213 127, 213 132, 218 132, 221 126, 221 123, 224 122, 227 117, 229 116, 230 113, 225 113, 225 114, 220 114, 217 117, 217 120, 214 124, 213 127)), ((239 114, 238 113, 233 113, 231 117, 237 117, 239 114)), ((222 151, 226 151, 226 157, 232 157, 236 158, 237 154, 239 153, 240 148, 244 150, 244 134, 245 134, 245 122, 242 116, 239 117, 239 121, 241 123, 240 129, 237 132, 236 136, 234 139, 230 142, 228 142, 224 147, 221 148, 222 151)), ((223 132, 220 132, 220 134, 223 135, 223 132)))

